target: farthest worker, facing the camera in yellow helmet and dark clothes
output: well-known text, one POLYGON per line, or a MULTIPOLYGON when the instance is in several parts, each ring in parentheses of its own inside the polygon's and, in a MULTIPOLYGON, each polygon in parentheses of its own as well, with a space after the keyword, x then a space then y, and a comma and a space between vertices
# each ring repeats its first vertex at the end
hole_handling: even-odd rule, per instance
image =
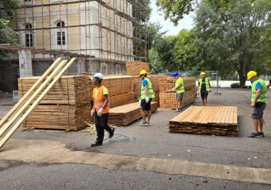
POLYGON ((205 72, 201 72, 201 79, 198 79, 198 95, 201 92, 201 102, 202 106, 207 105, 207 96, 209 91, 211 92, 211 84, 207 77, 205 77, 205 72))

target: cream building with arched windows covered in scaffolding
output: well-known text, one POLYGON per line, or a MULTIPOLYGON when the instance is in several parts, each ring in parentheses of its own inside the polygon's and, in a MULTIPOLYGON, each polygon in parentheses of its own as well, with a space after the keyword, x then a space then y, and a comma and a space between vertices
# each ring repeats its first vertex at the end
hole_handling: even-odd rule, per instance
POLYGON ((56 57, 78 57, 68 74, 119 74, 125 62, 147 62, 144 0, 19 0, 10 27, 18 45, 8 50, 0 89, 16 89, 18 77, 43 74, 56 57))

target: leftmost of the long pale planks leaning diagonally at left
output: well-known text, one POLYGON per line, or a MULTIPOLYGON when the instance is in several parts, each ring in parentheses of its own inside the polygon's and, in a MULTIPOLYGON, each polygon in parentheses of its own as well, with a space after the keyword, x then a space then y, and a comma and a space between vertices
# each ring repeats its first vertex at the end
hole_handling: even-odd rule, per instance
POLYGON ((23 106, 23 104, 25 104, 25 102, 28 99, 28 96, 30 96, 34 89, 36 89, 36 87, 38 85, 41 84, 41 82, 44 81, 44 79, 46 79, 46 77, 48 76, 48 74, 50 74, 50 72, 52 72, 53 68, 58 65, 58 63, 62 60, 61 57, 58 57, 58 59, 55 60, 55 62, 53 62, 53 64, 46 70, 46 72, 44 72, 44 74, 40 77, 40 79, 38 79, 38 81, 31 86, 31 89, 29 89, 26 94, 18 101, 18 103, 11 108, 11 110, 6 113, 6 116, 4 116, 4 118, 1 119, 0 121, 0 128, 4 125, 4 123, 6 123, 7 121, 9 121, 9 119, 14 116, 14 114, 21 108, 21 106, 23 106))

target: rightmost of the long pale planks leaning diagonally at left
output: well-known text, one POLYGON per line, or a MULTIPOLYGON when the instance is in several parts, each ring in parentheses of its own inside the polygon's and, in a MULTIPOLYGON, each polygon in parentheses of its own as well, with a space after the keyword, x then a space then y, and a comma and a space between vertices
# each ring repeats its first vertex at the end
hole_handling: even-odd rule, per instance
POLYGON ((14 132, 17 130, 17 128, 21 125, 21 123, 23 123, 23 121, 26 119, 26 117, 29 115, 29 113, 31 113, 31 111, 33 111, 33 108, 35 108, 38 105, 38 103, 41 101, 41 99, 43 99, 43 96, 45 96, 48 93, 48 91, 53 87, 55 82, 58 81, 58 79, 62 76, 62 74, 73 64, 73 62, 75 62, 75 60, 76 60, 76 57, 74 57, 72 60, 70 60, 70 62, 68 62, 68 64, 65 65, 65 67, 63 69, 60 70, 57 77, 55 77, 55 79, 53 79, 53 82, 51 82, 51 84, 49 86, 47 86, 47 88, 43 91, 41 96, 39 96, 38 99, 36 99, 36 101, 31 105, 31 107, 28 108, 26 113, 24 113, 23 116, 21 116, 21 118, 15 123, 15 125, 11 128, 11 130, 9 130, 9 132, 6 133, 4 138, 0 141, 0 147, 3 147, 4 144, 6 143, 6 141, 9 140, 9 138, 11 138, 11 135, 13 135, 14 132))

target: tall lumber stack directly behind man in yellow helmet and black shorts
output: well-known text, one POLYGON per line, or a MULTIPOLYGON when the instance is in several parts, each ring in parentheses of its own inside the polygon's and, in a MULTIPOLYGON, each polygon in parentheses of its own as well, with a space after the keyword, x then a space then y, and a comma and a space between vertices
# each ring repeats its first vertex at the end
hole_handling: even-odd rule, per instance
MULTIPOLYGON (((150 74, 147 77, 152 82, 152 89, 154 90, 154 99, 152 101, 157 101, 159 104, 159 92, 160 92, 160 79, 167 78, 168 76, 162 74, 150 74)), ((134 100, 137 100, 138 97, 141 96, 141 85, 142 79, 140 77, 132 77, 132 91, 134 93, 134 100)))

